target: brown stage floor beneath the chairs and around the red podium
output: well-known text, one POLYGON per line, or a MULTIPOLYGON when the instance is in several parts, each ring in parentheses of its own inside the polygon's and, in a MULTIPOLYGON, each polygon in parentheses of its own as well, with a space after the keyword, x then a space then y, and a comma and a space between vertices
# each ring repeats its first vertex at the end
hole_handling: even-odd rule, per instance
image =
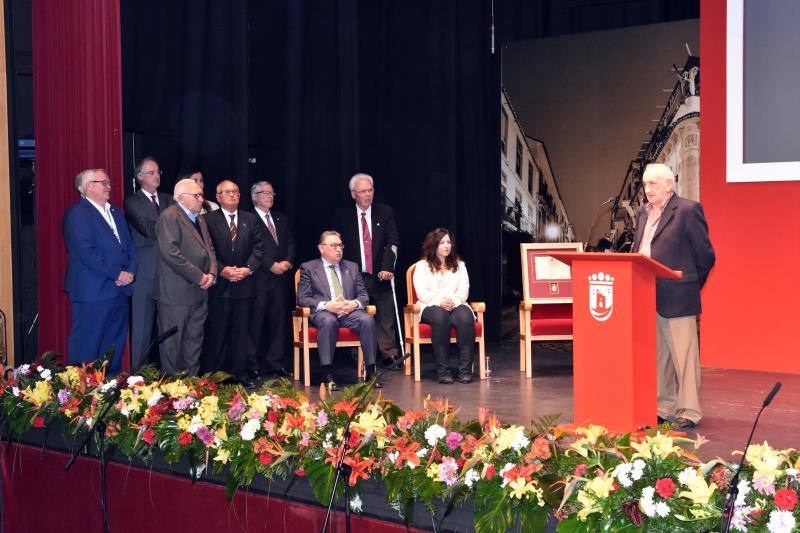
MULTIPOLYGON (((383 378, 383 395, 405 409, 419 409, 427 395, 447 396, 460 406, 461 419, 477 418, 478 408, 495 412, 505 423, 528 424, 543 415, 560 415, 562 423, 572 423, 572 352, 571 343, 539 343, 534 354, 533 379, 519 371, 518 344, 487 346, 491 356, 491 377, 463 385, 440 385, 435 380, 430 348, 422 352, 422 381, 413 375, 388 372, 383 378)), ((314 353, 312 352, 312 357, 314 353)), ((346 353, 337 354, 336 364, 349 365, 346 353)), ((450 360, 455 367, 455 353, 450 360)), ((342 381, 355 374, 354 365, 342 368, 342 381)), ((708 442, 698 450, 699 456, 731 459, 730 452, 741 450, 747 442, 750 427, 764 397, 776 381, 783 387, 772 404, 761 415, 753 442, 768 440, 778 448, 800 447, 800 376, 766 372, 749 372, 719 368, 703 369, 701 405, 703 419, 694 430, 708 442)), ((318 381, 309 389, 318 398, 318 381), (315 385, 316 384, 316 385, 315 385)))

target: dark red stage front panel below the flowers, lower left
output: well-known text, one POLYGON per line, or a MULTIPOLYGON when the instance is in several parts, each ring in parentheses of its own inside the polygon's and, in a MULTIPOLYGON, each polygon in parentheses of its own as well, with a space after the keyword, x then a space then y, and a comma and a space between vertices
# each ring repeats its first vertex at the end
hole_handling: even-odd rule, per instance
MULTIPOLYGON (((102 531, 100 469, 81 457, 69 472, 68 456, 25 445, 2 444, 3 530, 14 533, 102 531)), ((114 533, 319 531, 321 506, 239 491, 233 502, 219 485, 108 465, 108 508, 114 533)), ((334 531, 344 531, 344 513, 334 531)), ((352 531, 401 533, 400 524, 352 517, 352 531)), ((411 531, 419 531, 412 529, 411 531)))

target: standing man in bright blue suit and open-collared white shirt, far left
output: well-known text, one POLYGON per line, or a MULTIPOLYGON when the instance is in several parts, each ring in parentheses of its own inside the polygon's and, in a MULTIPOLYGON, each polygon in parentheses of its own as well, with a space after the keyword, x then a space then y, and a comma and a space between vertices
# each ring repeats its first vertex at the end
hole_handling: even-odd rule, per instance
POLYGON ((84 170, 75 176, 75 188, 81 199, 67 209, 62 223, 68 254, 64 290, 72 303, 69 362, 94 361, 113 346, 113 375, 122 368, 128 336, 136 247, 122 212, 108 203, 111 179, 105 170, 84 170))

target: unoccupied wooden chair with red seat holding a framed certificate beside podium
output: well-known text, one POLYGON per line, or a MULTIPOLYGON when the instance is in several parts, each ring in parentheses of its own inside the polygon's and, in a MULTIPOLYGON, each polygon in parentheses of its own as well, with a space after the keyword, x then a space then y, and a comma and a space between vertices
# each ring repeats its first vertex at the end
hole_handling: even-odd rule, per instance
POLYGON ((519 304, 519 371, 533 377, 533 346, 538 341, 572 340, 572 278, 569 267, 547 252, 582 252, 581 243, 523 243, 519 304))

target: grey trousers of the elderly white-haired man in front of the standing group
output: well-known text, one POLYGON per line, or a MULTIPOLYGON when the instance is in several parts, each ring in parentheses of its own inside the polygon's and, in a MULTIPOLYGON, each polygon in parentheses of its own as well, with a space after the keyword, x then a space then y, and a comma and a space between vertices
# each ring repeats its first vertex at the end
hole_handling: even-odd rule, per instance
POLYGON ((200 370, 203 351, 203 328, 208 316, 208 301, 199 305, 169 305, 160 303, 158 328, 166 332, 173 326, 178 332, 161 345, 161 368, 169 376, 186 372, 196 376, 200 370))

